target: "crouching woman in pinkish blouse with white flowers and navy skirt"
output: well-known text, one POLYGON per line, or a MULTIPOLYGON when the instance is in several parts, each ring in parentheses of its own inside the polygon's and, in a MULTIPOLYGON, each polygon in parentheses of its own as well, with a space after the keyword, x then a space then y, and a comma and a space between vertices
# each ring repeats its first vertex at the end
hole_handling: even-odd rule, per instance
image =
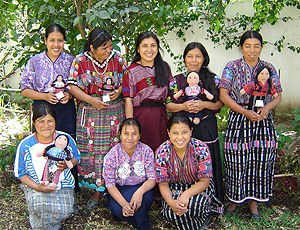
POLYGON ((141 126, 134 118, 120 125, 121 143, 105 156, 103 177, 108 191, 108 209, 116 219, 125 219, 136 229, 149 229, 147 211, 154 200, 154 153, 141 143, 141 126))

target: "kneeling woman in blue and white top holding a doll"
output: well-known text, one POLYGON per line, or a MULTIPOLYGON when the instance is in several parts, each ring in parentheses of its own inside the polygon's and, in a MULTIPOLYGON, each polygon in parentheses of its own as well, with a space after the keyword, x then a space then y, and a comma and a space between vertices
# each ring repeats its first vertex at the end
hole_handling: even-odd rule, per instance
POLYGON ((46 186, 42 181, 47 159, 39 154, 54 143, 60 134, 68 136, 70 163, 75 166, 80 160, 75 141, 64 132, 55 131, 55 112, 48 104, 39 104, 33 110, 36 132, 22 140, 17 148, 14 174, 21 180, 21 189, 33 229, 60 229, 61 222, 73 212, 75 181, 65 161, 57 164, 61 171, 57 188, 46 186))

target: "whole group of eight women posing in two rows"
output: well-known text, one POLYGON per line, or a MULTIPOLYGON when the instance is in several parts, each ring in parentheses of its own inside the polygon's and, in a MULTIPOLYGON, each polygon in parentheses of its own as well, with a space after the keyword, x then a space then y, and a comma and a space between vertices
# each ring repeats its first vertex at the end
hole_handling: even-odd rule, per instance
POLYGON ((272 195, 276 156, 269 111, 280 103, 282 90, 275 68, 259 59, 258 32, 244 33, 243 57, 229 62, 221 78, 208 69, 209 55, 198 42, 184 50, 187 71, 172 77, 152 32, 138 36, 130 66, 112 49, 112 36, 104 29, 93 29, 75 58, 63 52, 64 40, 64 29, 50 25, 47 51, 32 57, 21 75, 22 95, 34 100, 35 132, 19 144, 15 176, 22 182, 32 228, 59 229, 74 211, 78 164, 80 184, 94 190, 87 209, 95 209, 104 195, 116 220, 149 229, 147 211, 162 197, 162 214, 178 229, 204 229, 211 212, 223 212, 215 116, 223 103, 231 109, 224 142, 225 193, 231 203, 225 213, 233 215, 238 203, 250 200, 250 212, 259 219, 257 202, 272 195), (255 111, 248 106, 253 96, 240 90, 261 66, 271 68, 278 96, 268 94, 255 111), (199 75, 198 85, 214 100, 203 93, 191 100, 174 96, 190 72, 199 75), (56 87, 58 76, 64 84, 56 87), (166 110, 173 113, 170 119, 166 110), (194 124, 187 113, 199 112, 201 121, 194 124), (66 148, 74 177, 69 162, 58 160, 55 169, 63 173, 53 188, 41 180, 47 160, 39 153, 64 133, 70 134, 66 148))

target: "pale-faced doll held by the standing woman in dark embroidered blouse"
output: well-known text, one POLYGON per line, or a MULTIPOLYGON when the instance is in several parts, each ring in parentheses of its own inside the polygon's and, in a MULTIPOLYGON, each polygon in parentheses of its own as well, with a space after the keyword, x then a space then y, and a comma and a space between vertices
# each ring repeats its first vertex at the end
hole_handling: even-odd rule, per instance
MULTIPOLYGON (((200 76, 197 72, 189 72, 186 77, 187 84, 174 94, 174 98, 178 99, 180 96, 186 96, 186 100, 200 100, 200 95, 205 94, 206 98, 213 100, 214 96, 202 87, 200 76)), ((187 113, 188 117, 193 121, 195 125, 199 124, 202 118, 201 112, 187 113)))

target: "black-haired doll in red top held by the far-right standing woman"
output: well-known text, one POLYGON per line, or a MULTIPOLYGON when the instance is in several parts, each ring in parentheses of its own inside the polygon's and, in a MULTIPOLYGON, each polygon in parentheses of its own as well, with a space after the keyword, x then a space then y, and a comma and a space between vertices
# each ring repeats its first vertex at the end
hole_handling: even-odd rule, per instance
POLYGON ((267 94, 277 97, 278 93, 271 82, 271 69, 267 66, 261 66, 257 69, 254 81, 246 84, 241 90, 241 95, 251 94, 248 109, 264 107, 267 94))

